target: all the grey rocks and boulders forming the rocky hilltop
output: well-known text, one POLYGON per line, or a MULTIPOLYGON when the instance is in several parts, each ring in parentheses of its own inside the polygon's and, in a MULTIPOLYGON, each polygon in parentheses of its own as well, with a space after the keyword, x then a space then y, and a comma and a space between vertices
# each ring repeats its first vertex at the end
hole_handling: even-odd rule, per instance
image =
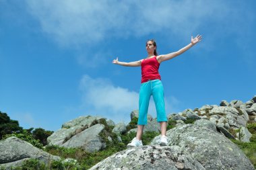
MULTIPOLYGON (((131 122, 138 116, 131 112, 131 122)), ((131 122, 115 124, 100 116, 81 116, 64 123, 48 138, 49 146, 82 148, 88 153, 102 151, 111 142, 123 142, 121 135, 135 132, 131 122)), ((168 115, 169 146, 159 146, 160 136, 149 145, 127 148, 104 159, 91 169, 254 169, 252 163, 230 139, 249 142, 256 134, 247 129, 256 122, 256 96, 251 100, 221 101, 193 110, 168 115)), ((159 124, 148 116, 144 132, 160 132, 159 124)), ((57 159, 18 138, 0 141, 0 166, 10 169, 30 158, 57 159)))

